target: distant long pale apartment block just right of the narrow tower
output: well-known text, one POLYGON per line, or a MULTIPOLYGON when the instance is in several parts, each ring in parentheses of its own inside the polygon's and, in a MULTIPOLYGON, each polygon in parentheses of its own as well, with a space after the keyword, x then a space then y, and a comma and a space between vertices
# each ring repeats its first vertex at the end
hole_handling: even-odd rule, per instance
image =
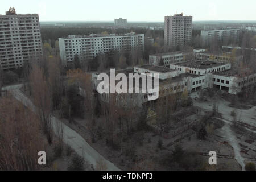
POLYGON ((201 38, 204 45, 209 45, 213 40, 225 42, 229 39, 238 39, 240 29, 222 29, 222 30, 201 30, 201 38))

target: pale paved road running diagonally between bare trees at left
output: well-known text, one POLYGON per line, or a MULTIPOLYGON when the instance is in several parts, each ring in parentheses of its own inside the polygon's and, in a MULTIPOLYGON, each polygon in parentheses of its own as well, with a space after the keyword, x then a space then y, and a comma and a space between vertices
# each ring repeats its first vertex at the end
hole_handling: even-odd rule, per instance
MULTIPOLYGON (((29 98, 25 96, 19 88, 22 87, 22 84, 19 85, 12 85, 2 88, 2 90, 9 90, 16 100, 22 102, 25 106, 28 106, 32 111, 35 112, 35 106, 32 104, 29 98)), ((61 122, 56 117, 52 117, 53 121, 53 131, 57 134, 57 126, 63 126, 63 137, 64 143, 69 144, 79 154, 82 156, 86 162, 93 165, 93 168, 96 168, 96 163, 98 160, 103 160, 106 164, 106 170, 108 171, 119 171, 120 169, 116 167, 113 163, 106 160, 101 154, 99 154, 94 148, 92 148, 88 142, 84 138, 81 137, 76 131, 69 128, 63 122, 61 122)))

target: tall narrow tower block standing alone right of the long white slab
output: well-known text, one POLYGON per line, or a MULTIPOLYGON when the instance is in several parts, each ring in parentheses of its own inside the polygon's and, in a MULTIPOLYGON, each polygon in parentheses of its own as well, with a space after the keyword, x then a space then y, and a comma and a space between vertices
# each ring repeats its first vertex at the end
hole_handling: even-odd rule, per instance
POLYGON ((166 46, 182 46, 191 42, 192 16, 175 14, 164 17, 164 44, 166 46))

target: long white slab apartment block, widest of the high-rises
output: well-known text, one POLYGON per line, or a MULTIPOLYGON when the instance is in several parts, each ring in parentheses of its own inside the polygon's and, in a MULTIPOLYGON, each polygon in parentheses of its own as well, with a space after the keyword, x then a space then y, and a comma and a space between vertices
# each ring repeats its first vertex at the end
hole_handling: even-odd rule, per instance
POLYGON ((80 60, 92 59, 98 53, 132 50, 144 51, 144 34, 91 34, 87 36, 69 35, 59 38, 60 58, 64 64, 73 61, 75 55, 80 60))

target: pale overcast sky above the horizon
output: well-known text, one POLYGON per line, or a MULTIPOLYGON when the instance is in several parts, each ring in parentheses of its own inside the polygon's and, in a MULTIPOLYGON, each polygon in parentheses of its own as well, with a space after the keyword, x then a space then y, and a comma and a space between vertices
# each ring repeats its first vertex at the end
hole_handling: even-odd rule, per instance
POLYGON ((256 20, 256 0, 1 0, 0 14, 14 7, 17 14, 38 13, 40 21, 164 22, 183 12, 195 21, 256 20))

